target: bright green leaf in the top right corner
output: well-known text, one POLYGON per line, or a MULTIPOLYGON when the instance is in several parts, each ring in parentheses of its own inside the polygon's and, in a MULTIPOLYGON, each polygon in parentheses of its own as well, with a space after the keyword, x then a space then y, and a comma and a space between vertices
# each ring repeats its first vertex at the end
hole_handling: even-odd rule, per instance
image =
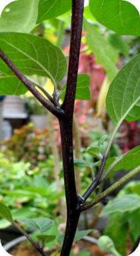
POLYGON ((140 35, 139 11, 123 0, 90 0, 89 8, 97 21, 119 35, 140 35))

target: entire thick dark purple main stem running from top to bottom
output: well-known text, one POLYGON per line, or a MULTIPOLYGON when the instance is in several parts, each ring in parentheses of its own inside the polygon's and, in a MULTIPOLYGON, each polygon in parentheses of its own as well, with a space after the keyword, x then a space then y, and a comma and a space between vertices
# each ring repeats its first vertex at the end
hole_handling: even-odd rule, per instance
POLYGON ((84 0, 73 0, 72 3, 73 6, 71 18, 69 69, 67 76, 65 100, 62 105, 62 108, 65 112, 65 118, 59 120, 63 154, 65 195, 67 203, 67 225, 61 256, 69 256, 80 215, 80 212, 77 211, 77 205, 79 201, 75 186, 75 172, 73 161, 73 112, 79 67, 79 53, 81 47, 84 0))

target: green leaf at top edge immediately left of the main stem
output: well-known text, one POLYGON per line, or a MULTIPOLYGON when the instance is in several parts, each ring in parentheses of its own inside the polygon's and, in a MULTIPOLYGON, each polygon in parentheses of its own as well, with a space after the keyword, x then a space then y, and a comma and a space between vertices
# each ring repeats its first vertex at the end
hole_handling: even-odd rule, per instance
POLYGON ((53 19, 71 9, 71 0, 40 0, 37 23, 53 19))

